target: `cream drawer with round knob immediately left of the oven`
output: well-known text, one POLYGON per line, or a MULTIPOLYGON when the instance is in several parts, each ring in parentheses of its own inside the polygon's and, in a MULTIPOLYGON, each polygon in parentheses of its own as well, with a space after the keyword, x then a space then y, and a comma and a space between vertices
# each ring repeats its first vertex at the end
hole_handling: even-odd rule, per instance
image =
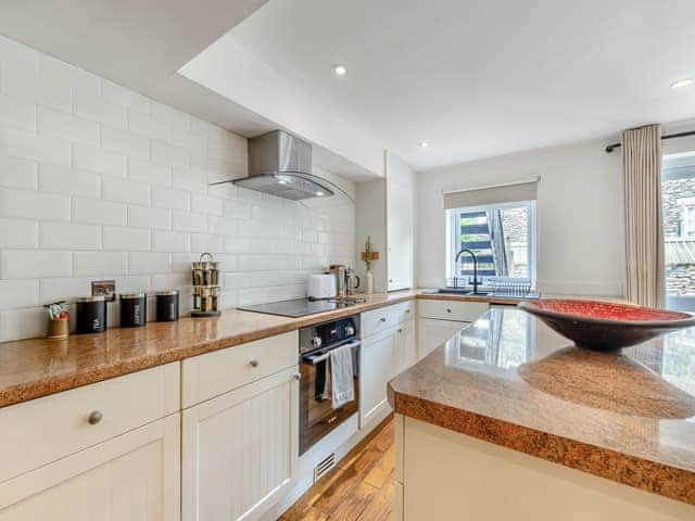
POLYGON ((299 342, 292 331, 184 360, 184 407, 296 366, 299 342))

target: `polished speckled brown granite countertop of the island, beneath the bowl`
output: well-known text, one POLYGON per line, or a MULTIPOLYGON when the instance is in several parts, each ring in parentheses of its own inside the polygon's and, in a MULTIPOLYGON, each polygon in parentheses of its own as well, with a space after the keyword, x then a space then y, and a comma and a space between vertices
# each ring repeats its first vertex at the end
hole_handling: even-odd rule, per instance
POLYGON ((695 505, 695 328, 616 353, 493 308, 389 383, 395 412, 695 505))

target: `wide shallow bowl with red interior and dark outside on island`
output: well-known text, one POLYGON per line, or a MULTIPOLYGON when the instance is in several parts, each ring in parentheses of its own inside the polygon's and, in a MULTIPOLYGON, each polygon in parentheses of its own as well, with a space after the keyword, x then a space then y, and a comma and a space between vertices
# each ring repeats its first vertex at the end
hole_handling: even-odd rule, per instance
POLYGON ((695 316, 690 313, 612 302, 542 298, 521 302, 518 307, 573 340, 579 347, 596 351, 629 347, 695 326, 695 316))

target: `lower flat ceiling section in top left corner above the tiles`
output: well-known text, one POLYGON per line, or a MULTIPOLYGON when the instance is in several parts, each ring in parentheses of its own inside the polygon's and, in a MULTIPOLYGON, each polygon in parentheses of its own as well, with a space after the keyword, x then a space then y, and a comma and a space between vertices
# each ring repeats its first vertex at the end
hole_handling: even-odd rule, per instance
POLYGON ((149 93, 266 1, 4 1, 0 33, 149 93))

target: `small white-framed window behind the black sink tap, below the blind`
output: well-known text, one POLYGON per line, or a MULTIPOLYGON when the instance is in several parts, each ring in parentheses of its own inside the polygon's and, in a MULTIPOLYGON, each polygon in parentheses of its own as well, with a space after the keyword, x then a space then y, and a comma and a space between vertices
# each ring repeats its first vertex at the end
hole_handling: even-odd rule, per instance
POLYGON ((479 283, 535 285, 535 201, 453 208, 448 219, 448 277, 459 285, 472 282, 470 255, 456 265, 456 254, 466 249, 478 258, 479 283))

